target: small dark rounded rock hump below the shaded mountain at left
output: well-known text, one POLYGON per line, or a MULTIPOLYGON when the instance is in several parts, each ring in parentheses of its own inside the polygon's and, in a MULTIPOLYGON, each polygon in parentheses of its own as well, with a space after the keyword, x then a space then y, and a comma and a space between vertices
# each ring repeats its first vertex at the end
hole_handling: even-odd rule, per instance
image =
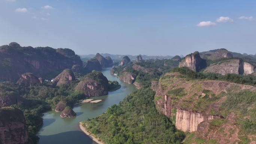
POLYGON ((33 73, 24 73, 21 74, 21 78, 16 83, 19 85, 36 85, 41 82, 33 73))

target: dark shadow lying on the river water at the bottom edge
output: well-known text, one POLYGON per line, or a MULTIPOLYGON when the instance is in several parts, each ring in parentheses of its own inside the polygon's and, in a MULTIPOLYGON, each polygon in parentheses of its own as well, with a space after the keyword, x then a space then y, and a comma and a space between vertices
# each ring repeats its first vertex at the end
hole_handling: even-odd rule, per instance
POLYGON ((39 144, 97 144, 81 131, 62 132, 54 135, 39 135, 39 144))

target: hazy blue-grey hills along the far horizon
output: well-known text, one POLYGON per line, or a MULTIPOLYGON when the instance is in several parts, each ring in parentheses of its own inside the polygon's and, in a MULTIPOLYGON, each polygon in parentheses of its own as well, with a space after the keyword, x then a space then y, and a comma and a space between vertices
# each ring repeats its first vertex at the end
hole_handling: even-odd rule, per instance
MULTIPOLYGON (((106 56, 110 56, 111 59, 122 59, 124 56, 128 56, 129 59, 134 60, 136 59, 137 55, 113 55, 113 54, 109 54, 109 53, 100 53, 100 55, 106 57, 106 56)), ((80 55, 81 58, 94 58, 95 55, 93 54, 89 54, 89 55, 80 55)), ((171 59, 174 56, 148 56, 148 55, 141 55, 143 59, 171 59)))

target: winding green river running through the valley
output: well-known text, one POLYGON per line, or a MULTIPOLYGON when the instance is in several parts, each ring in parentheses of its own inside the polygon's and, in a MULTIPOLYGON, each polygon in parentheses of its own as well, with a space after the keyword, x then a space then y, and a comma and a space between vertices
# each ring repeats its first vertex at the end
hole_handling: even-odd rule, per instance
POLYGON ((118 104, 125 96, 136 89, 134 85, 122 82, 118 77, 112 76, 110 68, 105 68, 102 73, 108 80, 118 81, 121 88, 109 92, 105 96, 92 97, 92 99, 102 99, 101 102, 76 105, 73 108, 76 117, 61 118, 61 112, 55 112, 54 110, 44 113, 43 126, 37 134, 40 138, 39 144, 97 144, 80 130, 79 122, 106 112, 108 107, 118 104))

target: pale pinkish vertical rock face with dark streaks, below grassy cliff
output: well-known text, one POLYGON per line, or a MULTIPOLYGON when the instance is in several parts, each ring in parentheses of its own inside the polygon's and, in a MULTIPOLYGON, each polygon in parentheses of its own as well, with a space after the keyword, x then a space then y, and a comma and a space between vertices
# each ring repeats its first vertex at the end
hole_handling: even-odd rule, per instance
POLYGON ((204 113, 181 110, 178 108, 176 113, 175 126, 177 129, 180 129, 183 132, 194 132, 197 130, 199 123, 216 118, 219 117, 207 115, 204 113))

